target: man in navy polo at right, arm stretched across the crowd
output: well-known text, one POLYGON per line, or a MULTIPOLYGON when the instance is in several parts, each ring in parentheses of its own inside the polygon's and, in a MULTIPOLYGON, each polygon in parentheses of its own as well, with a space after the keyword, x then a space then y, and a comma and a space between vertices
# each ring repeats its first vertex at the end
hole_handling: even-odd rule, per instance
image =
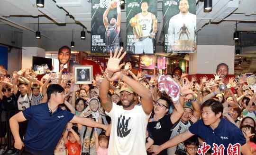
POLYGON ((225 155, 227 155, 229 144, 234 145, 237 143, 241 145, 240 150, 243 155, 251 155, 242 131, 222 118, 223 106, 219 101, 214 99, 205 101, 201 105, 201 111, 202 119, 190 126, 188 131, 175 136, 160 146, 151 147, 150 151, 154 152, 153 155, 157 155, 166 148, 176 146, 193 135, 198 135, 205 139, 206 144, 210 145, 211 148, 213 148, 213 143, 217 144, 218 147, 222 144, 225 147, 225 155))

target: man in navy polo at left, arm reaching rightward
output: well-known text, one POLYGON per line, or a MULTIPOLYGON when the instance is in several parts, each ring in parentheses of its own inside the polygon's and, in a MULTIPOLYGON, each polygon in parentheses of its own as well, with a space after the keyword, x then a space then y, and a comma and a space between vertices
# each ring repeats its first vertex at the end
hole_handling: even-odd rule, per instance
POLYGON ((47 89, 47 97, 47 103, 30 106, 9 120, 15 140, 14 147, 20 150, 25 146, 23 155, 53 155, 68 122, 107 129, 106 125, 93 122, 88 118, 74 116, 58 107, 64 101, 64 89, 60 85, 50 85, 47 89), (28 125, 23 143, 18 132, 18 122, 26 120, 28 125))

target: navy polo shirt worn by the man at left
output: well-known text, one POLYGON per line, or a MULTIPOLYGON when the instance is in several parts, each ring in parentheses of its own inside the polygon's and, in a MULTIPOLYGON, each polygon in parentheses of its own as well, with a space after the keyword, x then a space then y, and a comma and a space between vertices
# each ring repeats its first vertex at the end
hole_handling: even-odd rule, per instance
POLYGON ((30 106, 23 115, 28 121, 25 150, 34 155, 53 155, 66 124, 74 116, 60 107, 51 114, 47 103, 30 106))

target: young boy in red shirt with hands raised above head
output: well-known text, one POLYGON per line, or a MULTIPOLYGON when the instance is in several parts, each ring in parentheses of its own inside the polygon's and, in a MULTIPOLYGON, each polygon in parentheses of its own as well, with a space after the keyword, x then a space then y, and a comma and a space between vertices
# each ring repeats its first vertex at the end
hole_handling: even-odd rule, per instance
POLYGON ((63 139, 65 146, 68 149, 68 155, 80 155, 81 139, 79 135, 72 129, 72 123, 67 124, 63 139))

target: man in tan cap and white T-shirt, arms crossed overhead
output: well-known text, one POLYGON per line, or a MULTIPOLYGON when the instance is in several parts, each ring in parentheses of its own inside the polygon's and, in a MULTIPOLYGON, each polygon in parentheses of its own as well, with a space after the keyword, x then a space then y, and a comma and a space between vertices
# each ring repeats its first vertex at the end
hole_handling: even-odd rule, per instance
POLYGON ((139 82, 120 72, 119 65, 126 52, 122 54, 116 49, 114 56, 110 52, 106 78, 100 86, 101 105, 111 117, 108 155, 146 155, 146 126, 153 110, 151 93, 139 82), (120 57, 121 56, 121 57, 120 57), (120 93, 122 106, 111 102, 108 96, 110 81, 121 80, 127 84, 120 93), (134 106, 134 95, 141 97, 141 106, 134 106))

